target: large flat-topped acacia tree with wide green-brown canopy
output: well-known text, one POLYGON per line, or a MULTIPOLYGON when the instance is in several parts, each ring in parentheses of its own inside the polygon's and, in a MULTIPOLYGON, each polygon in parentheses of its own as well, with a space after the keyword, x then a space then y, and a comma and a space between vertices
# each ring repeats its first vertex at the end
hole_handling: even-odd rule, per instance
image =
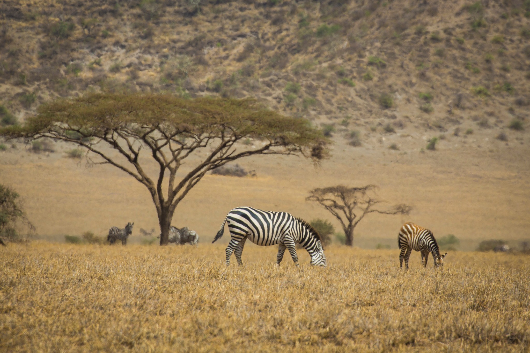
POLYGON ((169 94, 60 99, 40 106, 23 125, 0 130, 0 135, 77 144, 94 164, 110 164, 135 178, 155 204, 161 245, 168 242, 176 206, 209 170, 252 155, 319 159, 326 143, 307 120, 283 116, 253 99, 169 94), (255 147, 238 143, 248 138, 258 140, 255 147), (189 158, 198 150, 203 153, 189 158), (191 167, 178 176, 187 158, 191 167), (149 173, 153 168, 147 166, 153 162, 155 172, 149 173))

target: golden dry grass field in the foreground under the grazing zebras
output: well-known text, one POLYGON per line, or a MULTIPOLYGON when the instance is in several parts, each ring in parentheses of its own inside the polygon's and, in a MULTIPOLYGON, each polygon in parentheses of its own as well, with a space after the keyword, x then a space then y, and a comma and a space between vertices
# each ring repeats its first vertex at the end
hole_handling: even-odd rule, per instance
MULTIPOLYGON (((303 251, 303 250, 302 250, 303 251)), ((528 351, 530 257, 330 247, 300 268, 249 245, 0 249, 2 351, 528 351)))

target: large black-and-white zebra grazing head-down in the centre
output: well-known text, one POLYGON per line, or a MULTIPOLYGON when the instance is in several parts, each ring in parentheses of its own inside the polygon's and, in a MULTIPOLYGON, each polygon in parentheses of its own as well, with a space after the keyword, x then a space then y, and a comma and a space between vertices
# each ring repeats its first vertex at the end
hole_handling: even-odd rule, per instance
POLYGON ((287 212, 270 212, 253 209, 252 207, 236 207, 228 212, 217 232, 213 242, 223 236, 225 223, 232 239, 226 247, 226 265, 230 264, 230 257, 235 250, 235 257, 239 265, 243 265, 241 254, 246 239, 256 245, 278 244, 278 255, 276 265, 284 257, 285 249, 288 249, 296 266, 298 255, 296 254, 296 243, 301 243, 311 256, 311 265, 326 266, 326 257, 322 249, 320 234, 306 221, 295 218, 287 212))

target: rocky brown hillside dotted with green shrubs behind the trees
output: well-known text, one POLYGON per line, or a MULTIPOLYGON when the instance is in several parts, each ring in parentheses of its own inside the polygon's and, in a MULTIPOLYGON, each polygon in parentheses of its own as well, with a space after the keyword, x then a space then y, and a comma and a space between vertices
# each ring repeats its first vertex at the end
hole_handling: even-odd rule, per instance
POLYGON ((131 90, 257 97, 352 146, 411 131, 523 143, 529 17, 528 0, 3 0, 0 118, 131 90))

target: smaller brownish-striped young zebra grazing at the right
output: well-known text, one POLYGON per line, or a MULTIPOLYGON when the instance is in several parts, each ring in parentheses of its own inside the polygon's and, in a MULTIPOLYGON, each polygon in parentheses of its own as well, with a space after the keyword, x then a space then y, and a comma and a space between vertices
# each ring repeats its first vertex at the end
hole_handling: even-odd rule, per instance
POLYGON ((398 236, 398 246, 401 249, 399 255, 400 268, 403 268, 403 258, 405 258, 405 269, 409 268, 409 257, 412 250, 421 252, 421 264, 423 267, 427 267, 429 252, 432 253, 436 267, 444 266, 444 257, 447 252, 440 256, 440 249, 432 232, 419 225, 414 223, 403 224, 398 236))

